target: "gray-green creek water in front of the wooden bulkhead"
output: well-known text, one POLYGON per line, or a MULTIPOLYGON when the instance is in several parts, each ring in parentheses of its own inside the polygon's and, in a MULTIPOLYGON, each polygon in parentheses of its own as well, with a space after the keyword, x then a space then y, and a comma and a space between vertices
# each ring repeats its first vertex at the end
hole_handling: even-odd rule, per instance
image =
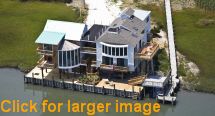
MULTIPOLYGON (((115 101, 126 103, 140 102, 141 104, 150 102, 155 103, 153 99, 145 99, 141 101, 135 101, 126 98, 118 98, 112 96, 104 96, 92 93, 77 92, 72 90, 63 90, 57 88, 43 87, 31 84, 24 84, 23 73, 16 69, 3 68, 0 69, 0 101, 8 100, 20 100, 20 102, 28 102, 33 100, 33 102, 41 103, 44 99, 50 102, 63 102, 63 108, 60 113, 50 113, 42 112, 41 106, 38 106, 38 112, 36 113, 3 113, 0 111, 0 116, 85 116, 86 112, 83 113, 68 113, 67 111, 67 101, 71 102, 95 102, 95 103, 105 103, 111 102, 113 106, 110 107, 108 113, 96 113, 97 116, 143 116, 143 113, 117 113, 115 111, 115 101)), ((10 107, 9 105, 5 106, 10 107)), ((180 90, 177 94, 177 103, 175 106, 171 104, 163 105, 161 104, 161 110, 159 113, 153 113, 152 116, 214 116, 215 115, 215 95, 198 93, 198 92, 188 92, 185 90, 180 90)))

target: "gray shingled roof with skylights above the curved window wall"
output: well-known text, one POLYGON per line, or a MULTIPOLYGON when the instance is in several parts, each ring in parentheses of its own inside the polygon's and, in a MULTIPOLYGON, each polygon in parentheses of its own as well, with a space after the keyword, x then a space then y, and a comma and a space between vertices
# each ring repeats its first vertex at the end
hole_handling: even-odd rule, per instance
MULTIPOLYGON (((134 13, 132 9, 124 10, 123 13, 134 13)), ((99 37, 98 42, 110 44, 131 45, 135 47, 140 41, 146 23, 133 14, 128 18, 118 17, 109 28, 99 37), (110 32, 116 31, 116 32, 110 32)))

